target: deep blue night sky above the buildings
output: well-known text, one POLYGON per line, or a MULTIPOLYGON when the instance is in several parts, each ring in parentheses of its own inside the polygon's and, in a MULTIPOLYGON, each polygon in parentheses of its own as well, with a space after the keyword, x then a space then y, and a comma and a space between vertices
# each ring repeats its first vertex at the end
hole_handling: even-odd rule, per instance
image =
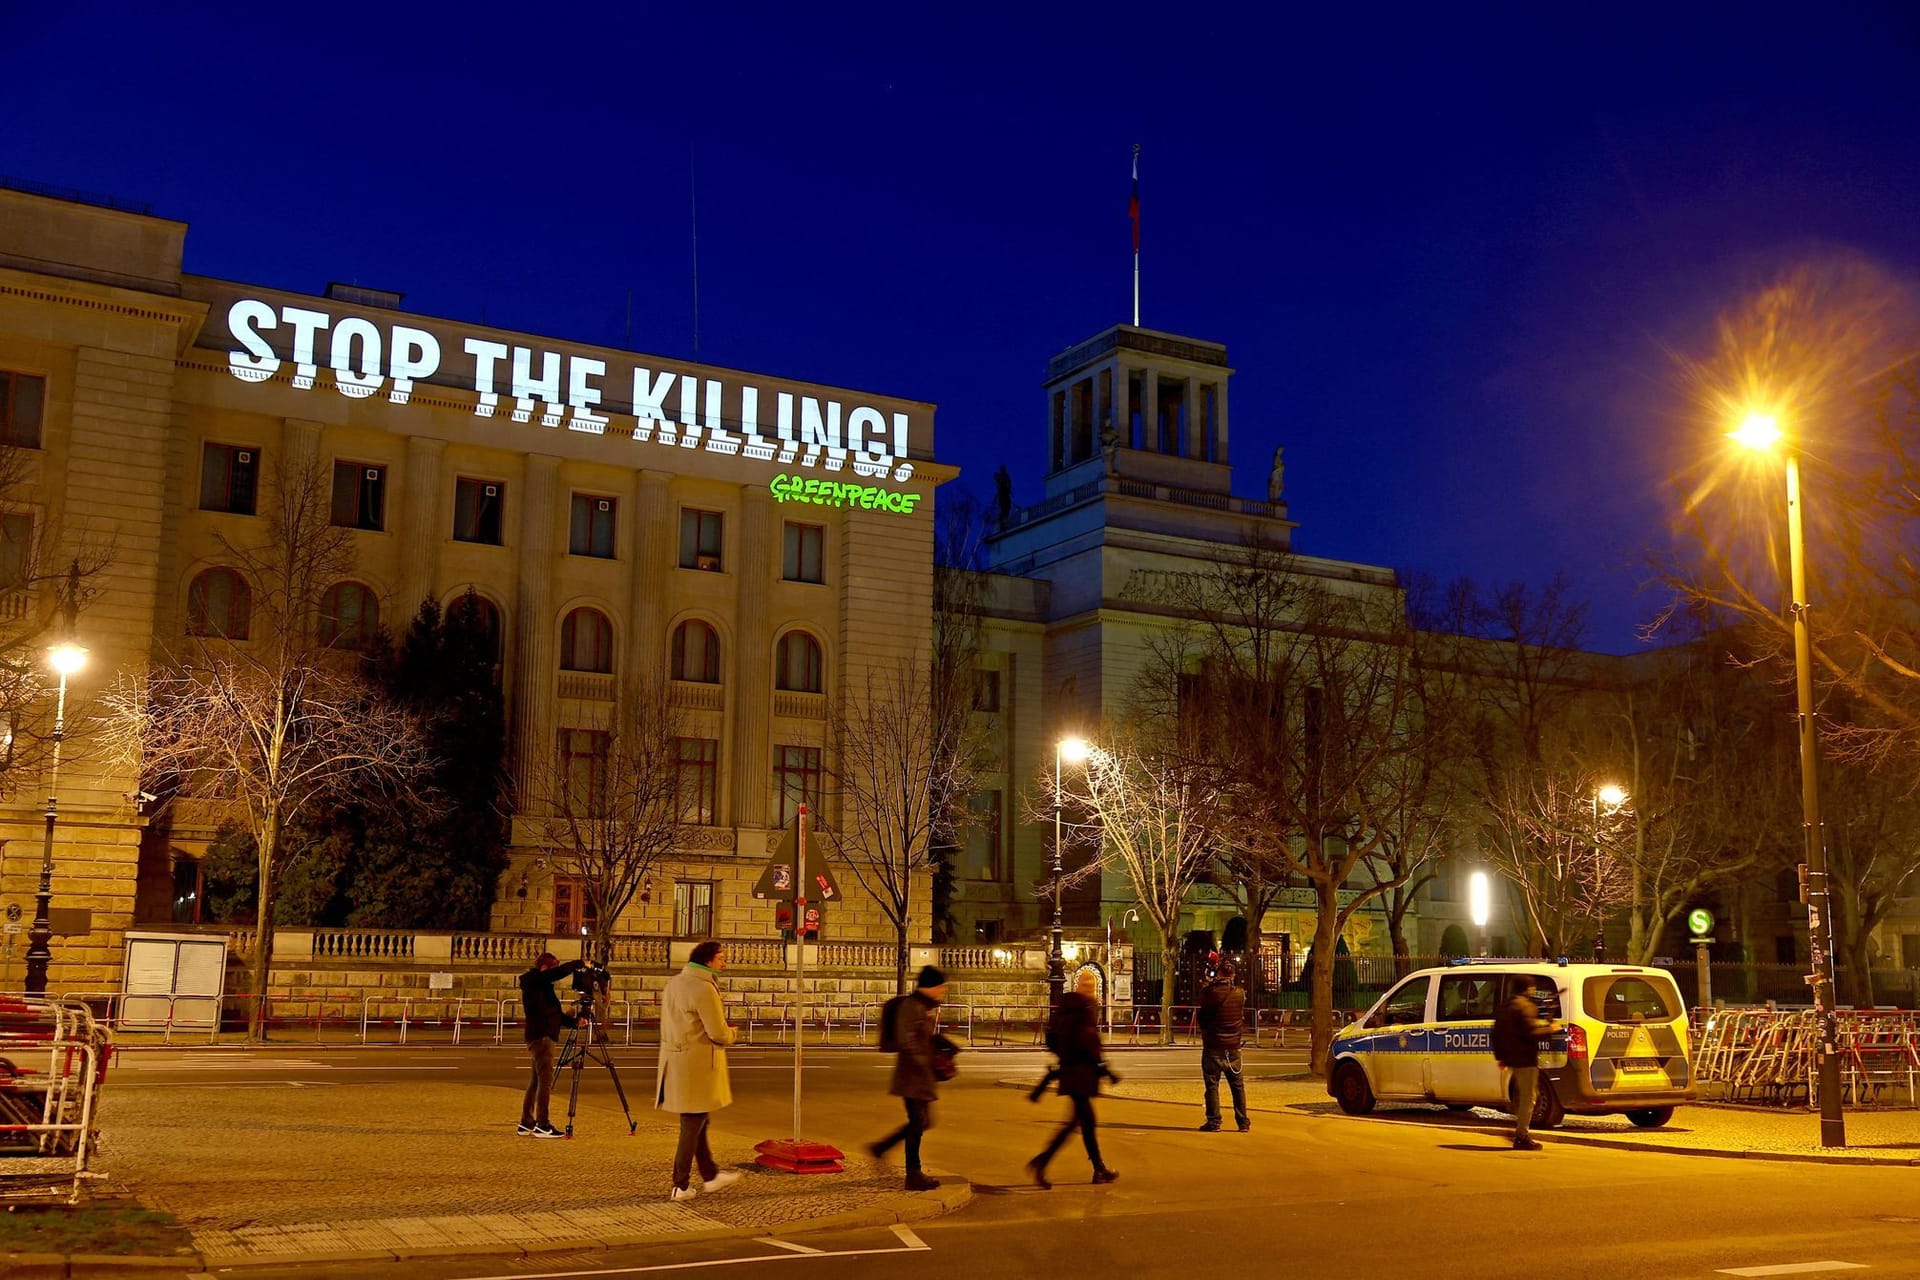
MULTIPOLYGON (((1296 547, 1544 580, 1632 647, 1709 434, 1672 351, 1784 265, 1920 257, 1920 10, 8 6, 0 173, 192 225, 188 271, 939 405, 1041 493, 1039 382, 1225 342, 1296 547), (574 10, 605 12, 582 17, 574 10)), ((1674 6, 1663 6, 1674 8, 1674 6)))

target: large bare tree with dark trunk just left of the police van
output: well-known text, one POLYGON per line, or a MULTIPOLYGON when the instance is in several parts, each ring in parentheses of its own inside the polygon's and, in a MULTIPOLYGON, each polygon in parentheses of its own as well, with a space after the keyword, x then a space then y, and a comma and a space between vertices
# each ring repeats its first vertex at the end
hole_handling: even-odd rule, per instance
POLYGON ((1325 1071, 1346 921, 1438 846, 1446 718, 1427 714, 1398 591, 1329 581, 1260 545, 1198 585, 1185 666, 1162 662, 1162 722, 1177 723, 1181 756, 1217 791, 1221 862, 1313 890, 1311 1061, 1325 1071), (1365 865, 1371 883, 1357 879, 1365 865))

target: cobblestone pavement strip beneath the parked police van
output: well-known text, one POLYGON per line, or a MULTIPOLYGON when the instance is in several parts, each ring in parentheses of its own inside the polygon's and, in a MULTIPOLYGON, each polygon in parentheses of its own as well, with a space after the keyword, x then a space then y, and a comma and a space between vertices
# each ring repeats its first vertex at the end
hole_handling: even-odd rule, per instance
MULTIPOLYGON (((1125 1067, 1121 1065, 1121 1071, 1125 1067)), ((1023 1084, 1008 1080, 1008 1084, 1023 1084)), ((1025 1084, 1031 1084, 1025 1082, 1025 1084)), ((1140 1102, 1179 1102, 1202 1119, 1200 1055, 1194 1054, 1194 1079, 1179 1080, 1121 1080, 1112 1094, 1140 1102)), ((1248 1077, 1246 1105, 1250 1111, 1292 1111, 1296 1115, 1340 1115, 1317 1077, 1248 1077)), ((1231 1109, 1221 1086, 1221 1107, 1231 1109)), ((1384 1121, 1446 1125, 1486 1132, 1500 1140, 1513 1123, 1503 1111, 1476 1109, 1452 1113, 1444 1107, 1400 1107, 1382 1103, 1375 1117, 1384 1121)), ((1605 1144, 1630 1150, 1663 1150, 1699 1155, 1757 1155, 1776 1159, 1834 1159, 1870 1163, 1920 1163, 1920 1109, 1914 1107, 1849 1107, 1847 1146, 1820 1146, 1820 1117, 1807 1107, 1747 1107, 1728 1103, 1686 1105, 1665 1128, 1634 1128, 1624 1115, 1569 1115, 1553 1130, 1534 1130, 1534 1136, 1555 1142, 1605 1144)), ((1233 1123, 1229 1115, 1229 1125, 1233 1123)), ((1258 1115, 1254 1119, 1258 1125, 1258 1115)))

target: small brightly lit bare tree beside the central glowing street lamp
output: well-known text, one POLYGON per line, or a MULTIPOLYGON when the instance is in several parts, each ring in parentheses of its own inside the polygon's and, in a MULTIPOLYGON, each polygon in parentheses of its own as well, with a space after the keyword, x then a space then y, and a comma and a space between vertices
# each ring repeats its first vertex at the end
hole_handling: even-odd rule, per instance
POLYGON ((1173 965, 1181 912, 1194 887, 1213 865, 1219 791, 1206 768, 1177 754, 1142 748, 1125 733, 1102 735, 1083 770, 1054 775, 1044 789, 1046 808, 1079 814, 1075 839, 1092 858, 1066 879, 1119 867, 1133 885, 1140 912, 1160 938, 1160 1042, 1173 1042, 1173 965))

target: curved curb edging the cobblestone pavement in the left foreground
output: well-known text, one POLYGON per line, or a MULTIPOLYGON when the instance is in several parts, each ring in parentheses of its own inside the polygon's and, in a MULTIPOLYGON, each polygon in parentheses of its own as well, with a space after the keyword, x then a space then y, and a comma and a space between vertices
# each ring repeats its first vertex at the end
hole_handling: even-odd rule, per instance
MULTIPOLYGON (((651 1244, 689 1242, 703 1244, 714 1240, 756 1240, 774 1234, 803 1234, 820 1230, 858 1230, 864 1226, 893 1226, 895 1222, 924 1222, 927 1219, 954 1213, 973 1199, 973 1184, 958 1174, 933 1171, 941 1176, 937 1192, 912 1192, 912 1199, 899 1207, 876 1205, 872 1209, 849 1209, 818 1219, 789 1219, 778 1226, 712 1226, 693 1232, 643 1232, 634 1236, 582 1236, 576 1240, 540 1240, 530 1244, 495 1242, 486 1245, 422 1245, 419 1249, 330 1249, 313 1253, 275 1253, 273 1257, 221 1259, 209 1263, 200 1253, 175 1255, 104 1255, 104 1253, 4 1253, 0 1255, 0 1274, 8 1280, 156 1280, 157 1276, 179 1274, 196 1276, 246 1270, 257 1267, 315 1267, 324 1263, 411 1263, 420 1259, 451 1257, 522 1257, 534 1259, 541 1253, 559 1251, 605 1251, 628 1249, 651 1244)), ((900 1194, 908 1196, 906 1192, 900 1194)), ((374 1219, 376 1221, 376 1219, 374 1219)))

